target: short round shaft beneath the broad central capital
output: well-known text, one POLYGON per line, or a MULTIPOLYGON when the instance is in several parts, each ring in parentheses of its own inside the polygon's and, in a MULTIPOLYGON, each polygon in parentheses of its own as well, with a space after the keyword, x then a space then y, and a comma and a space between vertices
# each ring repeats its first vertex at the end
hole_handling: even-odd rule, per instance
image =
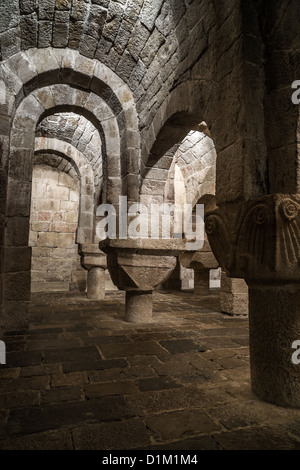
POLYGON ((152 321, 152 292, 126 291, 125 320, 129 323, 152 321))

